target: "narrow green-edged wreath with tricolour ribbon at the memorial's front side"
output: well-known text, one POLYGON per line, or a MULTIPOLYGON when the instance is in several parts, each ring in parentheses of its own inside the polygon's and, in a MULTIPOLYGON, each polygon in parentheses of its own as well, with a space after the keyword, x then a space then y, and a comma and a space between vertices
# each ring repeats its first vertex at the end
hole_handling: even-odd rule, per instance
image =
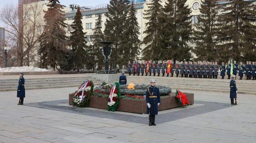
POLYGON ((119 99, 121 96, 119 85, 119 82, 115 82, 115 84, 110 90, 108 98, 108 111, 112 110, 114 112, 117 108, 117 105, 119 105, 119 99))

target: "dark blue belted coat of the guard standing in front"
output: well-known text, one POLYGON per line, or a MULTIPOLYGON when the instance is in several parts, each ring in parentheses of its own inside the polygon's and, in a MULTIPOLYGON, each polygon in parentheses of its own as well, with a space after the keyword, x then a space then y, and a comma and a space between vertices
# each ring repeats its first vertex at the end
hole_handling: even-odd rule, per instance
POLYGON ((157 87, 150 86, 148 88, 149 88, 150 94, 152 94, 152 93, 153 94, 152 94, 152 96, 150 96, 148 91, 146 91, 146 102, 150 104, 150 110, 147 106, 147 114, 149 114, 149 111, 150 111, 150 115, 157 115, 158 114, 158 103, 160 103, 160 92, 157 87))

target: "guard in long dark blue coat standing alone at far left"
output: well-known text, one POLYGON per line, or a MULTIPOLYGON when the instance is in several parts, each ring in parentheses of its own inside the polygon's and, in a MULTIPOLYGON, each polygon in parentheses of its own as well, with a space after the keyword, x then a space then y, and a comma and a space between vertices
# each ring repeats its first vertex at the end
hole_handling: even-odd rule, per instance
POLYGON ((19 85, 17 89, 17 97, 20 98, 18 105, 23 105, 23 101, 25 98, 25 79, 24 79, 24 72, 20 72, 20 78, 19 78, 19 85))

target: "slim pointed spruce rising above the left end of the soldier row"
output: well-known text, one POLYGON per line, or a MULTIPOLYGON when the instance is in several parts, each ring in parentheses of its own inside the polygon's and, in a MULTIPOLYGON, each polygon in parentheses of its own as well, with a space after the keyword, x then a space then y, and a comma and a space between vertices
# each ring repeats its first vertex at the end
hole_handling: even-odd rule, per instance
POLYGON ((140 51, 140 43, 139 40, 139 24, 137 22, 136 17, 136 10, 134 8, 134 3, 130 5, 130 11, 128 13, 128 18, 126 21, 127 24, 127 30, 126 35, 128 36, 125 49, 124 49, 124 55, 126 55, 124 59, 124 64, 127 63, 128 60, 134 61, 137 59, 137 56, 140 51))

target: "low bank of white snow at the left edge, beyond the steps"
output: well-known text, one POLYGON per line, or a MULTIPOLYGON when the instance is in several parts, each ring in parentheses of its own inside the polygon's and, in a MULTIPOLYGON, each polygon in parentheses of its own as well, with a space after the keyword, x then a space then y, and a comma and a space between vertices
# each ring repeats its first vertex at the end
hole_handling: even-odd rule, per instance
POLYGON ((38 67, 6 67, 0 68, 0 72, 45 72, 50 71, 48 69, 41 69, 38 67))

